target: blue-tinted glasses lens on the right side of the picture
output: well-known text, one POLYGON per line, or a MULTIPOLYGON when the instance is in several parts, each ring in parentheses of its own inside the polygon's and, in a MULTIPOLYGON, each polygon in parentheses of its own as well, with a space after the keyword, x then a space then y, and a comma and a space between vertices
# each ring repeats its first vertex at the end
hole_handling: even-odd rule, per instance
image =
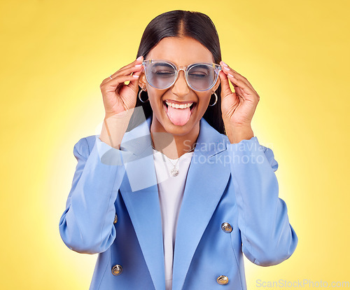
POLYGON ((207 64, 195 64, 188 70, 188 83, 195 90, 208 90, 214 84, 216 72, 207 64))

